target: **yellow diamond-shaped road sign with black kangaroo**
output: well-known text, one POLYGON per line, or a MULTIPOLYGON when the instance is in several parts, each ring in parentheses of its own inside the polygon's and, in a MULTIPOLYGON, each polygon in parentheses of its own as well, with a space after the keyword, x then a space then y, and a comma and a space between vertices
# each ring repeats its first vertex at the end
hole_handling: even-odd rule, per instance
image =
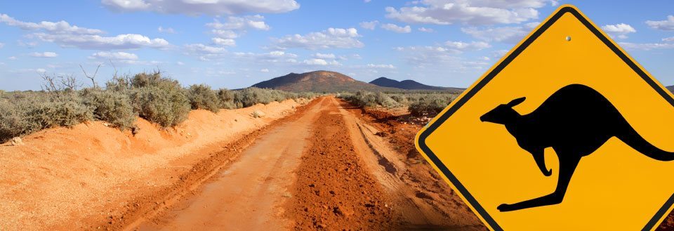
POLYGON ((674 98, 561 6, 416 137, 491 230, 654 230, 674 203, 674 98))

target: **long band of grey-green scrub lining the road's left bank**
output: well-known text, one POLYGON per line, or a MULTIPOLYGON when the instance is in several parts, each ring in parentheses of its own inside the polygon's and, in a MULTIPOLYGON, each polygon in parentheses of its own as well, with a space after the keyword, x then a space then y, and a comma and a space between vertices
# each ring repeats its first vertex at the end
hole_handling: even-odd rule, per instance
MULTIPOLYGON (((183 88, 161 72, 114 77, 98 86, 74 77, 44 74, 42 91, 0 91, 0 142, 45 128, 107 121, 121 130, 133 128, 136 117, 171 127, 187 119, 190 110, 236 109, 286 99, 315 98, 317 93, 291 93, 263 88, 213 90, 196 84, 183 88), (79 89, 81 88, 81 89, 79 89)), ((95 76, 95 74, 94 74, 95 76)))

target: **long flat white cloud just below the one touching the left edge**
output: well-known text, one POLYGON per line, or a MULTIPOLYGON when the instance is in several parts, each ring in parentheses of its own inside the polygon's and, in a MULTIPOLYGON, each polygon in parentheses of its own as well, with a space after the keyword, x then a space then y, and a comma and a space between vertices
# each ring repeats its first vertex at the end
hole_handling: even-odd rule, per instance
POLYGON ((132 49, 132 48, 167 48, 169 41, 164 39, 150 39, 140 34, 119 34, 115 37, 102 37, 92 34, 46 34, 35 33, 31 37, 37 37, 42 41, 49 41, 61 46, 72 46, 83 49, 132 49))

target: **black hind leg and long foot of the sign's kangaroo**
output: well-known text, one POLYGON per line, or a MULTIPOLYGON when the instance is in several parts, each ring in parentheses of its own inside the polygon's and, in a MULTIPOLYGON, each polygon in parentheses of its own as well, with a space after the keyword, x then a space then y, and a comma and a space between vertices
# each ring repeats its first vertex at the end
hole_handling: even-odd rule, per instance
POLYGON ((529 209, 532 207, 546 206, 552 204, 560 204, 562 199, 564 199, 564 194, 567 192, 567 187, 571 181, 571 176, 574 175, 576 171, 576 166, 581 160, 581 157, 576 156, 564 156, 557 154, 560 157, 560 176, 557 180, 557 187, 555 192, 545 195, 543 197, 538 197, 535 199, 529 199, 524 202, 518 202, 515 204, 501 204, 496 209, 499 211, 515 211, 520 209, 529 209))

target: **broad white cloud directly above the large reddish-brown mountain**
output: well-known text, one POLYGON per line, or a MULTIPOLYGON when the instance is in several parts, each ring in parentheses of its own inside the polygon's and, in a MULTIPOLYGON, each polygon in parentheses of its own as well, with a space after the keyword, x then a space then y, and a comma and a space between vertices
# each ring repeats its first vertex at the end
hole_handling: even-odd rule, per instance
POLYGON ((329 28, 322 32, 312 32, 305 35, 293 34, 282 38, 272 39, 276 48, 305 48, 309 50, 328 48, 360 48, 364 44, 357 39, 360 37, 357 29, 329 28))

